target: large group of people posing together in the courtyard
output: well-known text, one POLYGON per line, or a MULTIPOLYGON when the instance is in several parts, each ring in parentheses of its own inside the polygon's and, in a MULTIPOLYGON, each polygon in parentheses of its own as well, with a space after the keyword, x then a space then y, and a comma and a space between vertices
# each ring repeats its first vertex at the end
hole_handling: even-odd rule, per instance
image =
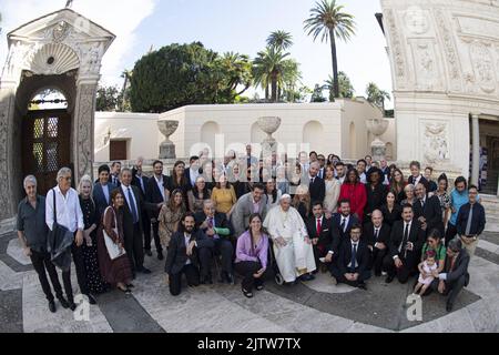
POLYGON ((151 273, 144 258, 152 257, 152 241, 160 261, 166 251, 172 295, 182 292, 184 274, 189 286, 212 284, 213 270, 228 284, 240 274, 246 297, 269 275, 294 285, 329 272, 333 283, 364 290, 373 274, 386 283, 419 275, 415 293, 448 295, 450 311, 469 282, 468 263, 486 223, 476 186, 459 176, 449 191, 445 174, 434 181, 432 169, 421 173, 418 162, 405 179, 370 156, 355 166, 316 152, 257 159, 247 145, 222 161, 200 152, 189 165, 177 161, 170 176, 161 161, 152 176, 142 165, 143 159, 133 169, 102 165, 98 180, 83 176, 78 191, 71 170, 61 169, 47 197, 37 194, 34 176, 24 179, 18 234, 51 312, 47 273, 60 304, 71 310, 71 258, 91 304, 110 287, 130 294, 135 274, 151 273))

